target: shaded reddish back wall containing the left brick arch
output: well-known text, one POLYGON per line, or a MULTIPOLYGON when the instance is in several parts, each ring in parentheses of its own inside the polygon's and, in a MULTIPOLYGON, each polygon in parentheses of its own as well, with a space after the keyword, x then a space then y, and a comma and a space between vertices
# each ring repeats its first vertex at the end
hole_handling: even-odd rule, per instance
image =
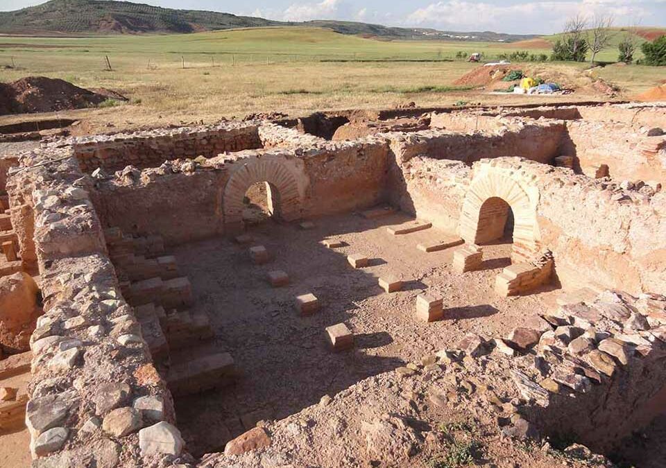
POLYGON ((101 181, 92 198, 105 227, 182 243, 236 232, 255 182, 275 187, 284 220, 373 206, 385 197, 387 153, 383 141, 368 140, 178 160, 101 181))

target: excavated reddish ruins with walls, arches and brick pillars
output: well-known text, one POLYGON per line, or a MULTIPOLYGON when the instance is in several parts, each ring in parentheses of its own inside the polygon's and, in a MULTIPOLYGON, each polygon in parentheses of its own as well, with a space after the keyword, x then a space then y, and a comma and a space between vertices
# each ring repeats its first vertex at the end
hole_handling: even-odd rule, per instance
POLYGON ((665 130, 406 107, 1 157, 3 466, 666 466, 665 130))

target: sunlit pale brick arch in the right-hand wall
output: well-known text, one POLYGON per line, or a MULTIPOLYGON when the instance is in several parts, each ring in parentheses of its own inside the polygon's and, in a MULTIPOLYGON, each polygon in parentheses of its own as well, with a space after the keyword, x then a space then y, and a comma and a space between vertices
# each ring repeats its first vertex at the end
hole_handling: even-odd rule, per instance
POLYGON ((486 172, 472 180, 463 201, 460 236, 468 243, 492 240, 495 234, 488 229, 496 231, 497 220, 506 220, 509 207, 503 202, 513 211, 512 257, 529 259, 539 250, 536 200, 518 182, 501 173, 486 172))

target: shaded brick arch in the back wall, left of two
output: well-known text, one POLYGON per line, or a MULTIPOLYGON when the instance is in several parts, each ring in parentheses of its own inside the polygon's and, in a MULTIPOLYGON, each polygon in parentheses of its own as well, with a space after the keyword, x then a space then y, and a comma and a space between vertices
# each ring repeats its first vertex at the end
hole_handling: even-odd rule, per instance
POLYGON ((243 199, 252 184, 268 184, 268 206, 276 218, 291 221, 300 218, 302 199, 296 176, 278 159, 255 159, 237 168, 225 185, 222 204, 225 225, 241 225, 243 199))

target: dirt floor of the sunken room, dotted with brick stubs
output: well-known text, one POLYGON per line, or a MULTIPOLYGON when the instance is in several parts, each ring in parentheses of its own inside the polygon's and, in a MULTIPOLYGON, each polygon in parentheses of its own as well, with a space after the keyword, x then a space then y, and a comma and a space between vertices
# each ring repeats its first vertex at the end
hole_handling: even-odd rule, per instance
POLYGON ((425 253, 416 245, 446 237, 437 229, 392 236, 387 225, 404 214, 367 220, 355 214, 316 220, 311 230, 269 221, 250 231, 265 245, 270 263, 250 263, 247 248, 226 239, 182 245, 173 251, 191 281, 196 305, 216 329, 216 347, 234 356, 235 385, 176 401, 178 426, 192 453, 223 449, 227 440, 260 419, 281 419, 335 395, 368 376, 394 370, 439 349, 454 347, 468 331, 508 334, 528 315, 553 304, 560 291, 503 298, 493 292, 495 276, 509 264, 510 244, 485 248, 484 269, 452 272, 454 249, 425 253), (329 250, 325 238, 347 245, 329 250), (353 269, 348 254, 361 253, 370 266, 353 269), (271 288, 266 273, 284 270, 291 285, 271 288), (404 291, 386 295, 377 277, 393 275, 404 291), (427 324, 414 317, 416 295, 428 289, 444 297, 445 320, 427 324), (321 311, 302 317, 293 297, 314 293, 321 311), (330 352, 325 327, 345 322, 356 336, 350 354, 330 352))

